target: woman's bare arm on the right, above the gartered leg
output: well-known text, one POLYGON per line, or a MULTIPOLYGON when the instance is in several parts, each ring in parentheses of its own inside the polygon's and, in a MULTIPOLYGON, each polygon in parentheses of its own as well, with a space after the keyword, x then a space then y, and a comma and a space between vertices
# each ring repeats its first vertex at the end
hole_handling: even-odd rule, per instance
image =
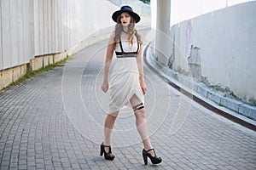
POLYGON ((140 44, 140 49, 137 53, 137 67, 139 71, 139 79, 140 79, 140 85, 143 90, 143 94, 146 94, 147 92, 147 85, 144 81, 144 71, 143 71, 143 44, 140 44))

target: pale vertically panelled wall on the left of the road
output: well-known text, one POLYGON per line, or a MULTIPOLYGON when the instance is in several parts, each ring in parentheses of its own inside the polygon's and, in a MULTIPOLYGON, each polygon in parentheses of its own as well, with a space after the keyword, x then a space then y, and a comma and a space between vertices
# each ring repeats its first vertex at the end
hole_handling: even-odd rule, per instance
POLYGON ((117 9, 107 0, 0 0, 0 8, 0 71, 67 51, 113 26, 111 15, 117 9))

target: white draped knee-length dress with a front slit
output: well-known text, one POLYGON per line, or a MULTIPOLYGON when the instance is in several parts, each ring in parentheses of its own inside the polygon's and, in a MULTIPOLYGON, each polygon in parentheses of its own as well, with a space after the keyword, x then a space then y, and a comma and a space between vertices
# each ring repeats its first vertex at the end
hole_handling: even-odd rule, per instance
POLYGON ((117 43, 115 48, 117 59, 109 82, 109 113, 119 111, 125 105, 131 107, 130 99, 133 95, 144 104, 137 58, 134 57, 139 49, 137 37, 133 38, 132 46, 123 39, 120 42, 121 44, 117 43), (122 51, 125 54, 121 54, 122 51))

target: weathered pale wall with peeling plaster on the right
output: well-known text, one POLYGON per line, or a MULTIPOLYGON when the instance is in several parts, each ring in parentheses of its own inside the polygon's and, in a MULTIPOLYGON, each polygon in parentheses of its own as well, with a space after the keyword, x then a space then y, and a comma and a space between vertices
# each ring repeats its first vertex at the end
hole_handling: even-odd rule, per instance
POLYGON ((255 8, 255 1, 241 3, 172 26, 170 37, 176 42, 173 68, 192 71, 189 61, 194 60, 201 77, 211 85, 230 88, 247 101, 255 100, 255 8))

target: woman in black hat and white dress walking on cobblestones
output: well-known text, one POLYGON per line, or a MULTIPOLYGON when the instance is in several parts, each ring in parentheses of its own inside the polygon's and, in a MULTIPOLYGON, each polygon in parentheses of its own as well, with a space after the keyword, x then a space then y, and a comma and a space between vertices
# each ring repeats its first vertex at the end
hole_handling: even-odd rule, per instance
POLYGON ((103 92, 109 87, 109 114, 104 124, 104 142, 101 144, 100 155, 104 154, 106 160, 113 160, 114 156, 110 146, 110 136, 113 124, 124 106, 131 106, 136 116, 137 131, 143 139, 143 159, 148 164, 148 157, 153 164, 161 162, 161 158, 155 155, 150 144, 148 127, 145 119, 144 94, 147 86, 143 77, 143 42, 142 36, 134 28, 140 21, 140 16, 133 12, 129 6, 123 6, 112 15, 117 23, 115 31, 108 41, 106 61, 104 67, 103 92), (113 68, 110 85, 108 86, 108 73, 113 51, 117 56, 116 65, 113 68))

